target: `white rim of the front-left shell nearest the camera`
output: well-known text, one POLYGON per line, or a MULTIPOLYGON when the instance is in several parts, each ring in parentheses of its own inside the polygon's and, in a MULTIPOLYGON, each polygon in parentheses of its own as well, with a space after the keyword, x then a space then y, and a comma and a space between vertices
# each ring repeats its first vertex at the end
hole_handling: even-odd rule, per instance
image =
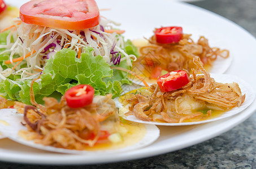
POLYGON ((23 120, 23 114, 18 114, 15 109, 1 109, 0 110, 0 120, 4 121, 6 124, 0 123, 0 132, 3 135, 8 137, 17 143, 31 146, 36 149, 47 150, 50 152, 57 152, 57 153, 67 153, 67 154, 97 154, 97 153, 119 153, 119 152, 127 152, 133 149, 140 149, 144 146, 150 145, 155 140, 158 139, 160 135, 160 131, 157 126, 153 124, 145 124, 146 127, 146 134, 142 140, 133 145, 126 146, 120 149, 114 150, 70 150, 70 149, 63 149, 63 148, 55 148, 53 146, 45 146, 42 144, 36 144, 33 140, 25 140, 23 137, 19 136, 18 132, 20 130, 27 130, 23 124, 25 123, 23 120), (23 124, 22 124, 23 123, 23 124))

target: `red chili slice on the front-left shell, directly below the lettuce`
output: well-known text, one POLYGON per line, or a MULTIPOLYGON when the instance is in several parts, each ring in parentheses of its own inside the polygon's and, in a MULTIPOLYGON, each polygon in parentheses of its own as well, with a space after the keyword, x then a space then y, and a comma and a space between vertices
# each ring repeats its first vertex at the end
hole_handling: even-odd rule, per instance
POLYGON ((67 105, 71 108, 81 108, 93 102, 94 88, 88 84, 71 87, 65 93, 67 105))

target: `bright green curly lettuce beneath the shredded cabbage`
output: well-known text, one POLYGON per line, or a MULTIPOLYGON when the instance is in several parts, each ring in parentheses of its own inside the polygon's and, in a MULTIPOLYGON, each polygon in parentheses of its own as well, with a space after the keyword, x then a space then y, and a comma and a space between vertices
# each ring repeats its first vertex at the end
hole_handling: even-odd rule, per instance
MULTIPOLYGON (((125 43, 124 50, 128 55, 138 56, 137 48, 132 45, 131 41, 125 43)), ((78 59, 75 51, 62 49, 54 55, 54 58, 47 60, 42 75, 33 85, 36 101, 42 103, 43 97, 53 95, 55 92, 63 95, 68 88, 77 84, 90 84, 94 87, 96 95, 120 96, 122 84, 131 84, 127 73, 111 69, 102 56, 93 56, 92 52, 93 48, 88 47, 78 59)), ((0 57, 0 59, 3 63, 6 57, 0 57)), ((126 61, 116 66, 131 69, 126 61)), ((6 99, 31 104, 29 96, 31 82, 32 80, 20 81, 19 77, 10 75, 1 80, 0 95, 6 99)))

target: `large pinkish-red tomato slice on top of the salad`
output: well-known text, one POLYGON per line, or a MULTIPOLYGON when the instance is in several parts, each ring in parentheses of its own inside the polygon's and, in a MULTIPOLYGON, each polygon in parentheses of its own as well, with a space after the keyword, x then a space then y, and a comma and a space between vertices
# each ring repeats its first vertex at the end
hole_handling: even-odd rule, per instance
POLYGON ((99 24, 99 10, 94 0, 33 0, 20 7, 20 19, 60 29, 86 29, 99 24))

